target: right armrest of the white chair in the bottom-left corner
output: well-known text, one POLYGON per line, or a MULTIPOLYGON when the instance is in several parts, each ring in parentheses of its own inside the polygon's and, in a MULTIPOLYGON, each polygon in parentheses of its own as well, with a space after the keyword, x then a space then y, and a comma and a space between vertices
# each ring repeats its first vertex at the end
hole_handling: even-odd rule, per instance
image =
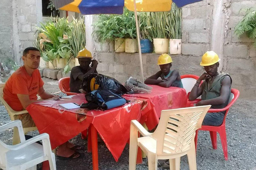
POLYGON ((43 139, 49 140, 49 134, 47 134, 47 133, 39 134, 35 137, 32 137, 28 140, 25 140, 24 142, 19 143, 17 145, 10 145, 9 149, 10 150, 19 150, 19 149, 22 149, 22 148, 24 148, 24 147, 26 147, 26 146, 28 146, 32 143, 35 143, 35 142, 37 142, 39 140, 43 140, 43 139))

